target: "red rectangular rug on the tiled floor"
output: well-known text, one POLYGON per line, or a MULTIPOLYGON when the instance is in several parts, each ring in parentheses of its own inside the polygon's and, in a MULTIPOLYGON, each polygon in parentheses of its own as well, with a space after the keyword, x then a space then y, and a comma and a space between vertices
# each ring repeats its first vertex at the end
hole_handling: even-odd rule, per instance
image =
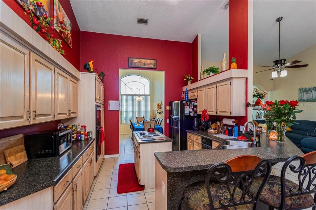
POLYGON ((141 190, 144 190, 144 187, 138 184, 134 163, 120 164, 118 193, 137 192, 141 190))

